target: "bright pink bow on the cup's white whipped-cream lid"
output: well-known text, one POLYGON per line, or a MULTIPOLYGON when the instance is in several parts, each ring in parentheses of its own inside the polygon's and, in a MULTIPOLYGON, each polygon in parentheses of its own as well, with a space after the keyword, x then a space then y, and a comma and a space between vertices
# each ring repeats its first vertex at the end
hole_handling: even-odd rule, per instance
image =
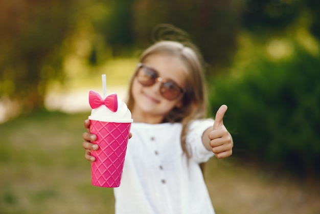
POLYGON ((112 112, 117 112, 118 110, 118 97, 117 94, 110 94, 104 100, 95 91, 90 90, 89 92, 89 104, 92 109, 96 109, 101 105, 107 106, 112 112))

